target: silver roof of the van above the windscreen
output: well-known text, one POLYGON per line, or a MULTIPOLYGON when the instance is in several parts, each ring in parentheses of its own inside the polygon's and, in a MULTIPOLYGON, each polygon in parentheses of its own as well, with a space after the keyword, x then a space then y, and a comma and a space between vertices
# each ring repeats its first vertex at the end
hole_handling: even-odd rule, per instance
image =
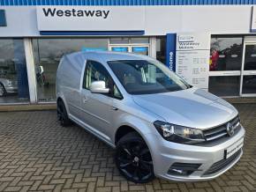
POLYGON ((68 57, 83 57, 94 59, 100 57, 105 62, 116 60, 151 60, 153 58, 146 55, 136 55, 132 53, 113 52, 113 51, 80 51, 67 55, 68 57))

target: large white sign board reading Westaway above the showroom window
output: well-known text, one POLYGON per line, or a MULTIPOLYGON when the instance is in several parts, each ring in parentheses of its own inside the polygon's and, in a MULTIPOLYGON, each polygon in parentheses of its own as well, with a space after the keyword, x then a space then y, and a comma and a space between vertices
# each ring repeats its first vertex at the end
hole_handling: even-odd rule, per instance
POLYGON ((144 32, 142 6, 36 6, 40 32, 144 32), (129 24, 129 25, 127 25, 129 24))

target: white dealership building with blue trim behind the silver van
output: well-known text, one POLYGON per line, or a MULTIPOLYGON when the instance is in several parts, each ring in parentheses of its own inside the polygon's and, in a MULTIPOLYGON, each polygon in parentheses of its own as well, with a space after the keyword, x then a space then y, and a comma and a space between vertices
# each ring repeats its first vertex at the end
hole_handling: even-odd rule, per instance
POLYGON ((253 0, 2 0, 0 105, 55 102, 62 55, 149 55, 222 97, 256 96, 253 0))

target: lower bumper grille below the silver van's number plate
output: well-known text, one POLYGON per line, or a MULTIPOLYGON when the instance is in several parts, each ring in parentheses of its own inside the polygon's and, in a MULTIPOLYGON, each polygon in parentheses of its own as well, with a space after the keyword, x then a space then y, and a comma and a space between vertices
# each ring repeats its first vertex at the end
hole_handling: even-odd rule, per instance
POLYGON ((213 166, 211 166, 207 170, 207 172, 204 175, 206 176, 209 174, 215 174, 215 173, 221 171, 226 166, 229 166, 232 162, 234 162, 237 159, 237 157, 240 155, 241 152, 242 152, 242 149, 240 149, 235 154, 233 154, 229 159, 222 159, 222 160, 216 162, 213 166))

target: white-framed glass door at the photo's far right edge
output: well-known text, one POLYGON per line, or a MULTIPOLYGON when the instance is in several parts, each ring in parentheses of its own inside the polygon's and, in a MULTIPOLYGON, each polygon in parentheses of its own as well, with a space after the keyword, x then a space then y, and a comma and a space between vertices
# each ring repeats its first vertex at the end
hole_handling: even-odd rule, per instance
POLYGON ((256 42, 245 43, 240 92, 242 96, 256 95, 256 42))

